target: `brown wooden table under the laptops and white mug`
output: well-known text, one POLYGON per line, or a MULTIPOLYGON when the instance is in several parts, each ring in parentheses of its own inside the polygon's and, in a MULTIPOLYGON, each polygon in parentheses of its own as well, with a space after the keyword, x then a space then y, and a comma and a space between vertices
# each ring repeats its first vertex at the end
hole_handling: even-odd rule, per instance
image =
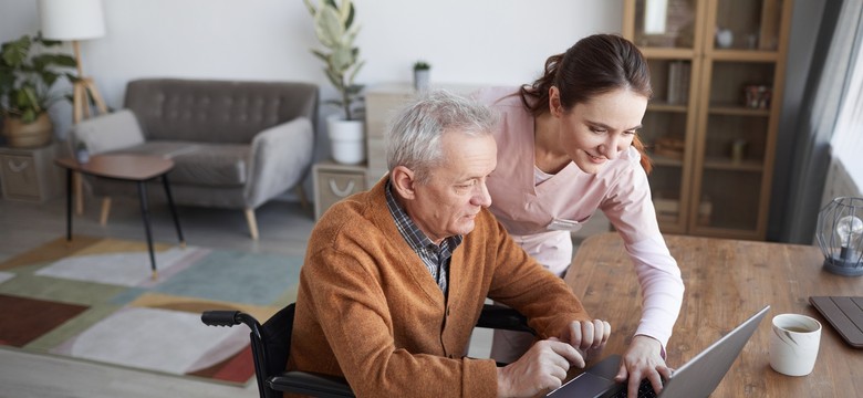
MULTIPOLYGON (((679 367, 770 304, 771 310, 713 397, 857 397, 863 394, 863 350, 854 349, 809 304, 810 295, 863 295, 863 277, 821 270, 814 245, 666 235, 686 293, 668 342, 667 363, 679 367), (770 323, 782 313, 807 314, 823 326, 815 368, 790 377, 770 368, 770 323)), ((588 238, 565 277, 591 315, 612 324, 602 356, 621 354, 641 316, 632 262, 616 233, 588 238)))

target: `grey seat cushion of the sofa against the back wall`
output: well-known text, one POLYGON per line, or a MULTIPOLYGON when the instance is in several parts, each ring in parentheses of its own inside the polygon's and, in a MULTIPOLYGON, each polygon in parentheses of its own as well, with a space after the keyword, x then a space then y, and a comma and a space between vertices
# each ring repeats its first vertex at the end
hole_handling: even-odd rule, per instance
POLYGON ((174 160, 171 185, 241 187, 248 180, 251 146, 152 140, 113 153, 152 155, 174 160))

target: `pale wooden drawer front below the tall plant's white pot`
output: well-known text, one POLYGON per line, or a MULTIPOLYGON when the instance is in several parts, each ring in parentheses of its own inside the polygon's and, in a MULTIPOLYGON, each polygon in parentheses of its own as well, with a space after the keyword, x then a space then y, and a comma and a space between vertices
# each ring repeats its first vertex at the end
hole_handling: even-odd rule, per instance
POLYGON ((315 219, 333 203, 366 189, 365 168, 315 165, 313 174, 315 219))

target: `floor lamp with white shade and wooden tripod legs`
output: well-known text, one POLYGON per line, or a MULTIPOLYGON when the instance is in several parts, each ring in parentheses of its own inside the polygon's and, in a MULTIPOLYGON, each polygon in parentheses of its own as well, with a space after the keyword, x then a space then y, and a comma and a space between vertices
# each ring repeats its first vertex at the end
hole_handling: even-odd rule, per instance
POLYGON ((72 41, 75 51, 77 80, 73 87, 73 122, 79 123, 84 117, 90 117, 91 100, 101 113, 107 113, 107 106, 93 80, 84 76, 79 45, 80 40, 105 35, 102 0, 39 0, 39 15, 42 20, 43 38, 72 41))

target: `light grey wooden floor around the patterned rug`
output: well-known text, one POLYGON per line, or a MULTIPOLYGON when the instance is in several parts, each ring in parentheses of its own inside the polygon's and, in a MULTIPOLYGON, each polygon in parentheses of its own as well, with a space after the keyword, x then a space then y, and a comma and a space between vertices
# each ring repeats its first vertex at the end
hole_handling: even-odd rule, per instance
MULTIPOLYGON (((74 218, 74 232, 94 237, 144 240, 136 200, 115 198, 108 224, 98 224, 100 203, 87 201, 74 218)), ((157 242, 175 243, 176 232, 167 206, 152 207, 157 242)), ((190 245, 250 252, 303 254, 314 226, 313 210, 300 203, 271 201, 257 210, 260 239, 249 238, 241 211, 180 207, 179 216, 190 245)), ((0 261, 64 237, 65 200, 45 203, 0 199, 0 261)), ((490 332, 477 329, 470 355, 488 357, 490 332)), ((246 388, 189 378, 104 366, 95 363, 33 355, 0 346, 0 397, 257 397, 254 383, 246 388)))

